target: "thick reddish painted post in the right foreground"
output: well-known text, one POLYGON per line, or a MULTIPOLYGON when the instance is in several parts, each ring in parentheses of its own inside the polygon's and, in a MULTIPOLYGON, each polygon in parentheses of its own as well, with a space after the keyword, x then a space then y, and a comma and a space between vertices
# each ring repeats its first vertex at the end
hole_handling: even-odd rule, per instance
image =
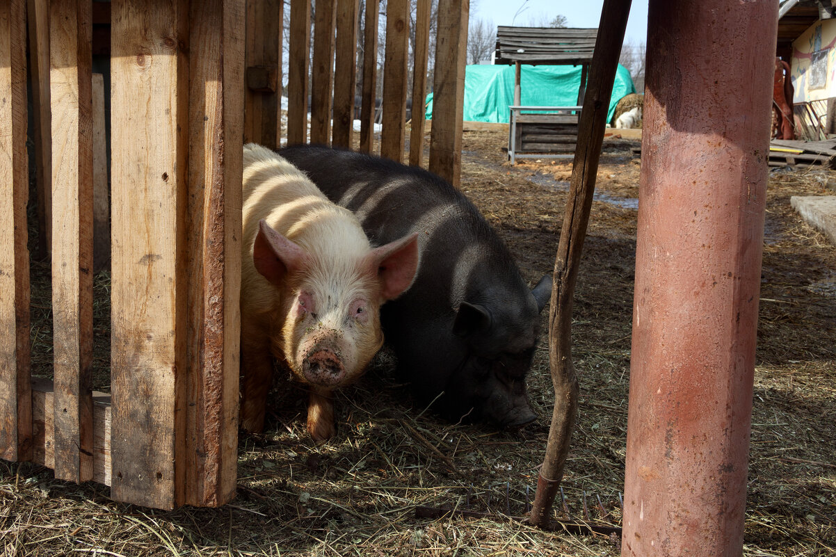
POLYGON ((622 555, 740 555, 774 0, 650 0, 622 555))

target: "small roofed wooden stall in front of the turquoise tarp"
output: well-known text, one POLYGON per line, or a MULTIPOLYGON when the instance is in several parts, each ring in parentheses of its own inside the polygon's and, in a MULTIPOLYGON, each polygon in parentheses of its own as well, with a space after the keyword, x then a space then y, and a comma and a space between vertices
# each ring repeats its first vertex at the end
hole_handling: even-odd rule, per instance
POLYGON ((508 133, 508 159, 571 158, 578 141, 580 107, 584 104, 589 64, 598 29, 497 28, 496 64, 514 64, 514 104, 508 133), (581 66, 578 103, 573 106, 527 106, 522 104, 523 64, 573 64, 581 66))

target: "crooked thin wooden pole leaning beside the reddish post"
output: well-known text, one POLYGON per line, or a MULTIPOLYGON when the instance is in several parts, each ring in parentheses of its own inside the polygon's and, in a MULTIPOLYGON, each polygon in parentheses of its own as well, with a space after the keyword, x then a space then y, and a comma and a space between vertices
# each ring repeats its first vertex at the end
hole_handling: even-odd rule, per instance
POLYGON ((630 0, 605 0, 601 10, 598 40, 589 71, 589 83, 581 111, 578 147, 572 168, 572 182, 563 214, 557 257, 554 260, 552 304, 548 316, 549 364, 554 384, 554 411, 548 432, 546 457, 537 482, 529 521, 548 524, 554 496, 563 478, 574 418, 578 410, 578 379, 572 363, 572 295, 584 247, 589 209, 595 190, 595 175, 604 126, 609 110, 615 70, 618 67, 624 28, 630 15, 630 0))

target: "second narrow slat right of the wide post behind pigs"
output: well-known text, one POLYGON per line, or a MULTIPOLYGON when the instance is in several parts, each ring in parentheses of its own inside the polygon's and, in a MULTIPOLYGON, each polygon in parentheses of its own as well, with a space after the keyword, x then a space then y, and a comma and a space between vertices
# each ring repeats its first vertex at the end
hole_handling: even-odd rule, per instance
POLYGON ((319 0, 316 3, 314 59, 311 63, 311 143, 328 143, 331 136, 336 18, 336 0, 319 0))

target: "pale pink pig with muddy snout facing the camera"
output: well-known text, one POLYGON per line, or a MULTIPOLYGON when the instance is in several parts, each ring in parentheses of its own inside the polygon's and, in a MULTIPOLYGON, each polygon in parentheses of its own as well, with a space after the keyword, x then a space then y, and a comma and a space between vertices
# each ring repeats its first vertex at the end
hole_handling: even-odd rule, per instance
POLYGON ((380 304, 410 287, 417 235, 371 248, 354 215, 262 146, 244 146, 241 424, 264 427, 271 355, 308 386, 308 432, 334 436, 331 392, 383 344, 380 304))

